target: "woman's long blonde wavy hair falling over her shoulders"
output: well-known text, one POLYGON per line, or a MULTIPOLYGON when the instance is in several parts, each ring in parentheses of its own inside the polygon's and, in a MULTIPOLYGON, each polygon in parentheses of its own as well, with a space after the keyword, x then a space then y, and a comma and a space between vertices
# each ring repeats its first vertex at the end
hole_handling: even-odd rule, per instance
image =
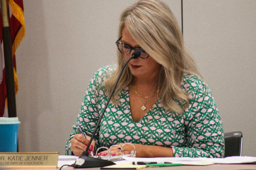
MULTIPOLYGON (((197 66, 185 49, 179 24, 167 4, 159 0, 140 0, 127 7, 119 21, 118 38, 126 26, 132 38, 157 63, 161 65, 158 89, 162 104, 173 112, 184 113, 189 104, 188 94, 181 88, 184 73, 202 78, 197 66)), ((106 94, 110 94, 119 72, 125 64, 124 54, 117 50, 118 67, 105 83, 106 94)), ((147 60, 147 59, 145 59, 147 60)), ((112 103, 118 104, 117 95, 133 80, 128 67, 117 84, 112 103)))

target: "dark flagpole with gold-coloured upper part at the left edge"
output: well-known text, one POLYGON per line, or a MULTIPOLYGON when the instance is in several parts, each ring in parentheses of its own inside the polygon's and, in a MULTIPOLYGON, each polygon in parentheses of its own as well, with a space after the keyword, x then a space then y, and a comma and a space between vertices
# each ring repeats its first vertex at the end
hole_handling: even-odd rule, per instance
POLYGON ((3 49, 4 49, 8 117, 17 117, 15 86, 14 86, 14 71, 13 71, 12 38, 11 38, 10 14, 9 14, 9 0, 1 0, 1 14, 2 14, 2 32, 3 32, 3 49))

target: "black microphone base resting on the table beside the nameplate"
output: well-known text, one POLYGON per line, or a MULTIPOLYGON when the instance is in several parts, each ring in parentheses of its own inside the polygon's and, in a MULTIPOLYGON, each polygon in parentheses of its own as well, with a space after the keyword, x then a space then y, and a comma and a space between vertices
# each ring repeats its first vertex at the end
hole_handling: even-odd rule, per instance
POLYGON ((93 168, 93 167, 105 167, 109 165, 115 165, 115 163, 109 160, 82 155, 76 159, 76 162, 75 164, 73 164, 73 167, 74 168, 93 168))

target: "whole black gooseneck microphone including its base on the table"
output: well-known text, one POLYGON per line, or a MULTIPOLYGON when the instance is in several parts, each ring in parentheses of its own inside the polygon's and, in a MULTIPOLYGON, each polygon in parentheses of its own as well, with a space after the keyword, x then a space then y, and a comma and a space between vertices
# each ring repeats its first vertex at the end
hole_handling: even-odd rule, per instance
POLYGON ((95 130, 93 132, 93 134, 91 135, 91 139, 90 141, 88 142, 88 146, 86 148, 86 150, 82 153, 82 155, 76 159, 76 162, 73 164, 73 167, 75 168, 93 168, 93 167, 104 167, 104 166, 109 166, 109 165, 115 165, 115 163, 113 163, 112 161, 109 161, 109 160, 104 160, 104 159, 99 159, 99 158, 94 158, 94 157, 89 157, 89 153, 88 153, 88 150, 89 150, 89 147, 91 145, 91 142, 93 141, 93 138, 100 126, 100 121, 106 111, 106 108, 107 106, 109 105, 109 102, 110 102, 110 99, 115 91, 115 88, 116 88, 116 85, 121 77, 121 74, 123 73, 124 71, 124 68, 125 66, 129 63, 129 61, 131 59, 136 59, 138 58, 139 56, 141 55, 141 52, 140 51, 134 51, 132 54, 131 54, 131 57, 127 60, 127 62, 125 63, 125 65, 123 66, 122 70, 120 71, 118 77, 117 77, 117 80, 115 82, 115 85, 110 93, 110 96, 109 96, 109 99, 108 101, 106 102, 106 105, 100 115, 100 118, 97 122, 97 125, 95 127, 95 130))

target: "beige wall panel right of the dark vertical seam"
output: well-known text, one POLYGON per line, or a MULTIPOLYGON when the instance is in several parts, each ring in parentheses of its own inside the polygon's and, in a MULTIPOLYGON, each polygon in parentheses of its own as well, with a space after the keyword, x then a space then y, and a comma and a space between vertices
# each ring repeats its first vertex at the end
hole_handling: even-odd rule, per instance
POLYGON ((183 5, 184 39, 210 86, 224 132, 242 131, 242 155, 256 156, 256 1, 183 5))

